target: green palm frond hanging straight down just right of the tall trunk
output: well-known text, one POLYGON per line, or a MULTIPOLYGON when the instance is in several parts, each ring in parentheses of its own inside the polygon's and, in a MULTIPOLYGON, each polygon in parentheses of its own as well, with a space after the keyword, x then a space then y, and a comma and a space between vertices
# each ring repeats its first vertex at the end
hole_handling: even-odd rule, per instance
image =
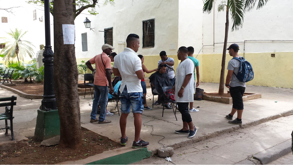
POLYGON ((228 5, 233 21, 232 31, 238 30, 242 28, 243 14, 245 12, 242 0, 230 0, 228 5))

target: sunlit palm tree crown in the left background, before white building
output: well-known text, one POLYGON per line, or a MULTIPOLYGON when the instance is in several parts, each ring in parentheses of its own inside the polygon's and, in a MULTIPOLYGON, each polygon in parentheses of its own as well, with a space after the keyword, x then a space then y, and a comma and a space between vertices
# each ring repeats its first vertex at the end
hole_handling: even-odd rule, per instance
POLYGON ((25 33, 28 31, 25 31, 24 33, 21 33, 21 30, 18 30, 17 28, 15 31, 10 30, 7 34, 12 37, 10 41, 5 42, 5 47, 0 52, 2 55, 4 55, 5 61, 13 59, 17 57, 17 60, 19 62, 19 59, 23 61, 23 56, 28 54, 30 58, 33 57, 33 44, 29 41, 21 40, 21 37, 25 35, 25 33))

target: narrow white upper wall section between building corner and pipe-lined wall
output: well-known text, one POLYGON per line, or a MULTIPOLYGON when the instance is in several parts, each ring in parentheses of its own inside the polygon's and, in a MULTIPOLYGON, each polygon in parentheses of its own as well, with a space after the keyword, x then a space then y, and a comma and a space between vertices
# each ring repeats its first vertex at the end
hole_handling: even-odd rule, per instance
POLYGON ((202 47, 202 1, 179 0, 178 47, 202 47))

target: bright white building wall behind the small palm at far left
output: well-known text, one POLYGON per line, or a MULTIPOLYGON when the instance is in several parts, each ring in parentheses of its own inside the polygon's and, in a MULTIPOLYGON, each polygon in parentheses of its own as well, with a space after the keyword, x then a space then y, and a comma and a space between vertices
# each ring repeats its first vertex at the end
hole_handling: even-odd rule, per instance
MULTIPOLYGON (((14 0, 13 3, 10 1, 2 1, 1 8, 5 7, 13 7, 13 6, 21 6, 19 8, 13 9, 13 14, 8 13, 7 11, 0 10, 0 17, 8 17, 8 23, 0 22, 0 37, 11 38, 6 32, 10 32, 17 28, 18 30, 22 30, 22 32, 28 31, 21 40, 27 40, 32 42, 35 46, 33 47, 34 55, 40 50, 39 45, 45 45, 45 18, 44 18, 44 9, 41 6, 28 4, 23 0, 14 0), (33 10, 37 11, 37 20, 33 21, 33 10), (43 16, 43 21, 39 21, 39 17, 43 16)), ((51 45, 53 43, 53 16, 50 14, 51 21, 51 45)), ((4 41, 4 39, 0 39, 0 42, 4 41)), ((2 49, 0 49, 1 51, 2 49)), ((16 61, 17 58, 14 59, 16 61)), ((30 61, 30 57, 26 55, 24 57, 25 61, 30 61)), ((0 59, 0 63, 3 63, 2 58, 0 59)))

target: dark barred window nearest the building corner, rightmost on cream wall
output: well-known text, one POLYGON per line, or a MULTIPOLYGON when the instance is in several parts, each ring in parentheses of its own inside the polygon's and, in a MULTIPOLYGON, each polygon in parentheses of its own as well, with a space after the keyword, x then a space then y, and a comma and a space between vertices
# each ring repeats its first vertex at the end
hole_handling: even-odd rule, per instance
POLYGON ((155 46, 155 19, 142 21, 142 47, 155 46))

